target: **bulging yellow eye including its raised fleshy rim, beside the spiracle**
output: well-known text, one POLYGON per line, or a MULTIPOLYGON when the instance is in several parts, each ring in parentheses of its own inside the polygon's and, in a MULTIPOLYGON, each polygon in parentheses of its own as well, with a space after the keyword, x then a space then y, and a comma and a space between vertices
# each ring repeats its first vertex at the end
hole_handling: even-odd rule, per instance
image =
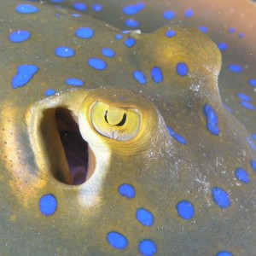
POLYGON ((159 122, 152 102, 122 88, 90 90, 79 109, 79 131, 99 158, 103 151, 124 156, 154 147, 159 122))

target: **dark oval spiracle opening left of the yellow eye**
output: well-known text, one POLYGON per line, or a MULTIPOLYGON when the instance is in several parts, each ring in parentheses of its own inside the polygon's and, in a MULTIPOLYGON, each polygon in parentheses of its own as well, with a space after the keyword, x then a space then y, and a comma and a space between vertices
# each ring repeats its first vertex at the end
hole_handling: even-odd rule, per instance
POLYGON ((61 183, 79 185, 95 170, 95 156, 79 131, 77 117, 67 108, 47 108, 40 122, 38 144, 45 168, 61 183))

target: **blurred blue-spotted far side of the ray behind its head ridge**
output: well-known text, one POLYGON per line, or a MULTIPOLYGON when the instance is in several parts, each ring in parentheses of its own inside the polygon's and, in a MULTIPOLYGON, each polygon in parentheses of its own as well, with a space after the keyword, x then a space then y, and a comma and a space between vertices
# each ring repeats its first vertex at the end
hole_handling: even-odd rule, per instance
MULTIPOLYGON (((73 1, 48 1, 79 12, 73 1)), ((83 1, 78 1, 83 3, 83 1)), ((255 47, 256 7, 252 1, 84 1, 86 15, 103 20, 121 30, 140 29, 153 32, 166 25, 184 24, 201 28, 216 44, 223 55, 222 70, 218 79, 220 95, 225 106, 232 110, 247 130, 255 133, 255 47), (101 9, 95 10, 95 6, 101 9), (133 22, 127 22, 133 20, 133 22), (135 20, 135 22, 134 22, 135 20), (223 48, 224 46, 224 48, 223 48), (242 68, 239 73, 229 70, 230 64, 242 68), (232 84, 230 86, 230 84, 232 84), (240 94, 249 96, 243 102, 240 94), (249 103, 252 106, 248 106, 249 103)))

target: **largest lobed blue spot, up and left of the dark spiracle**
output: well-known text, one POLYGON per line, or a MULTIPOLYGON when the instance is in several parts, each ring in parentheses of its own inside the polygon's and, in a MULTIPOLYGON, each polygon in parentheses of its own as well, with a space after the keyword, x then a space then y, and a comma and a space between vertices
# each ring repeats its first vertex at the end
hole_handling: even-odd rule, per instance
POLYGON ((26 85, 38 72, 38 67, 35 65, 21 65, 17 68, 17 73, 12 79, 13 88, 19 88, 26 85))

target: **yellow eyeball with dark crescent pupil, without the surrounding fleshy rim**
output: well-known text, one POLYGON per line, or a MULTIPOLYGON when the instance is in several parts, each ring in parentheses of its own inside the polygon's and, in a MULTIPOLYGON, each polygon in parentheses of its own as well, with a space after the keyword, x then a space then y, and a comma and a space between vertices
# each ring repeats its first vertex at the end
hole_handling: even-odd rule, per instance
POLYGON ((128 141, 140 130, 142 114, 134 108, 117 108, 96 102, 90 110, 90 120, 102 136, 128 141))

